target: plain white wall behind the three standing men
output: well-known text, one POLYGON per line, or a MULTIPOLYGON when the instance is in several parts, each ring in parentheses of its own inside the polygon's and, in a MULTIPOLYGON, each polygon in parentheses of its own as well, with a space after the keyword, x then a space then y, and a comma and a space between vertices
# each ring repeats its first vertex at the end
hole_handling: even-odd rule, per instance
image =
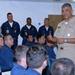
MULTIPOLYGON (((32 24, 38 29, 43 25, 43 20, 45 17, 48 17, 48 14, 61 14, 62 4, 63 3, 0 1, 0 25, 7 20, 7 13, 12 12, 14 20, 19 22, 21 28, 26 24, 26 18, 31 17, 32 24), (41 25, 38 25, 38 23, 41 23, 41 25)), ((74 9, 75 4, 72 3, 72 6, 74 9)), ((21 44, 21 42, 22 38, 19 37, 19 44, 21 44)))

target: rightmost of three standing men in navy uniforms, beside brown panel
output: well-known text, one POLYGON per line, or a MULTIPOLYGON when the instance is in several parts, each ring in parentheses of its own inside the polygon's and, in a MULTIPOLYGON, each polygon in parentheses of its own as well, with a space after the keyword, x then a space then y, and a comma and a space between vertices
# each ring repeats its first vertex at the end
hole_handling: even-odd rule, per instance
POLYGON ((39 34, 45 34, 45 37, 47 37, 49 34, 51 34, 52 36, 54 35, 53 27, 51 27, 49 25, 49 19, 48 18, 44 19, 44 25, 39 28, 38 33, 39 34))

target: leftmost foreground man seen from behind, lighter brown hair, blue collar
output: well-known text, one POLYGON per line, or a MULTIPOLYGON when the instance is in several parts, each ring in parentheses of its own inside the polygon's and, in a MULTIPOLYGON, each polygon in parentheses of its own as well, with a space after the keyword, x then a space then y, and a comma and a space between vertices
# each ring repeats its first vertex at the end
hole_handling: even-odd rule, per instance
POLYGON ((27 46, 19 45, 15 49, 16 62, 13 64, 11 75, 25 75, 27 64, 26 64, 26 53, 29 48, 27 46))

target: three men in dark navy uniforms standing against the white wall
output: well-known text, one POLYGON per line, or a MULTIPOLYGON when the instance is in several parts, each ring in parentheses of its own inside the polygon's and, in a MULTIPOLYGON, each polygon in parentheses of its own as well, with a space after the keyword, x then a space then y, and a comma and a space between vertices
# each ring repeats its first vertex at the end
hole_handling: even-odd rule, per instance
POLYGON ((36 26, 32 25, 32 19, 30 17, 28 17, 26 19, 26 25, 24 25, 22 27, 22 29, 20 28, 20 26, 21 25, 19 25, 18 22, 13 20, 12 13, 7 13, 7 21, 1 25, 2 35, 5 36, 6 34, 10 34, 14 38, 13 48, 15 48, 18 45, 19 34, 23 38, 22 44, 24 44, 26 42, 26 36, 28 34, 31 34, 33 36, 33 38, 36 37, 37 33, 45 34, 45 37, 48 34, 51 34, 52 36, 54 35, 54 30, 49 25, 49 19, 48 18, 44 19, 44 25, 41 26, 38 31, 37 31, 36 26))

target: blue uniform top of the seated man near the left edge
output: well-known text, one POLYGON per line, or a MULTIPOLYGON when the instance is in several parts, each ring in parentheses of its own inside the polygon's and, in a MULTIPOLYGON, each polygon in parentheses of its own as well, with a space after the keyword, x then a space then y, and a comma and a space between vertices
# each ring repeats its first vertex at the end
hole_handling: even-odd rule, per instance
POLYGON ((10 70, 13 66, 13 58, 14 58, 14 55, 10 52, 10 50, 9 51, 3 50, 3 52, 1 53, 1 59, 4 62, 2 64, 6 65, 6 66, 1 65, 1 69, 2 70, 10 70))

